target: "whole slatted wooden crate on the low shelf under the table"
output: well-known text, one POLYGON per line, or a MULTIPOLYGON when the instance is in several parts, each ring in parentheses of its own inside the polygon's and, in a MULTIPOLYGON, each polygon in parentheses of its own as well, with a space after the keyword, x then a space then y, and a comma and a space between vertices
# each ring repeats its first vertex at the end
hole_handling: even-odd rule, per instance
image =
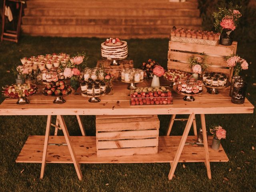
POLYGON ((160 122, 150 116, 96 116, 97 156, 157 154, 160 122))

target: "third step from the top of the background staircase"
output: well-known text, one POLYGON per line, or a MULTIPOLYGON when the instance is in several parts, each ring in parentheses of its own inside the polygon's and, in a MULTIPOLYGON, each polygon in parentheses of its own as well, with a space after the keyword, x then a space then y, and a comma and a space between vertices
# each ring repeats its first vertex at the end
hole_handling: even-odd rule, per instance
POLYGON ((24 25, 201 25, 201 18, 197 17, 164 17, 164 18, 84 18, 84 17, 34 17, 24 16, 22 17, 22 24, 24 25))

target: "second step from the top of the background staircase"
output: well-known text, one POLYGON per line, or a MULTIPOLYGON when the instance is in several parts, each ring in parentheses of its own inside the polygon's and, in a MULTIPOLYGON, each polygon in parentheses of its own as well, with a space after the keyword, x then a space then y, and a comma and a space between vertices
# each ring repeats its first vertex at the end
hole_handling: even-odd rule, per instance
POLYGON ((199 17, 200 11, 198 9, 177 9, 170 10, 166 8, 158 9, 134 9, 123 8, 116 11, 115 8, 25 8, 25 16, 105 16, 105 17, 123 17, 123 16, 137 16, 137 17, 165 17, 165 16, 182 16, 182 17, 199 17))

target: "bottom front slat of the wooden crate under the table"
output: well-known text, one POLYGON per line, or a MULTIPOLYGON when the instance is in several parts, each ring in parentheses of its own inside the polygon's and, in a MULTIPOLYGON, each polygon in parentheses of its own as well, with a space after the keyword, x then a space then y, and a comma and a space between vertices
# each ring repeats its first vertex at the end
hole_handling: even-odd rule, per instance
POLYGON ((158 147, 138 147, 138 148, 122 148, 122 149, 103 149, 97 151, 98 157, 110 156, 132 156, 132 155, 147 155, 156 154, 158 147))

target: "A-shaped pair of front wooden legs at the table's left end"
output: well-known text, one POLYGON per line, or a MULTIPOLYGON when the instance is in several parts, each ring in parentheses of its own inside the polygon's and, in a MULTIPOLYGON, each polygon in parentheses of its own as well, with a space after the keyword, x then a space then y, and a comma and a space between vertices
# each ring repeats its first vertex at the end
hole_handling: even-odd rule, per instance
MULTIPOLYGON (((52 116, 48 115, 47 125, 46 125, 46 133, 45 133, 45 139, 44 139, 44 150, 43 150, 43 157, 42 157, 42 167, 41 167, 40 179, 42 179, 44 177, 44 169, 45 169, 45 165, 46 165, 46 154, 47 154, 48 141, 49 141, 49 135, 50 135, 51 120, 52 120, 52 116)), ((57 115, 57 122, 60 122, 58 124, 60 124, 60 128, 62 129, 64 137, 66 139, 68 150, 72 157, 78 179, 82 180, 82 172, 80 169, 80 164, 78 163, 78 160, 76 158, 76 154, 75 154, 75 151, 74 151, 74 148, 73 148, 73 145, 72 145, 69 133, 68 133, 66 123, 64 121, 64 117, 62 115, 57 115)))

